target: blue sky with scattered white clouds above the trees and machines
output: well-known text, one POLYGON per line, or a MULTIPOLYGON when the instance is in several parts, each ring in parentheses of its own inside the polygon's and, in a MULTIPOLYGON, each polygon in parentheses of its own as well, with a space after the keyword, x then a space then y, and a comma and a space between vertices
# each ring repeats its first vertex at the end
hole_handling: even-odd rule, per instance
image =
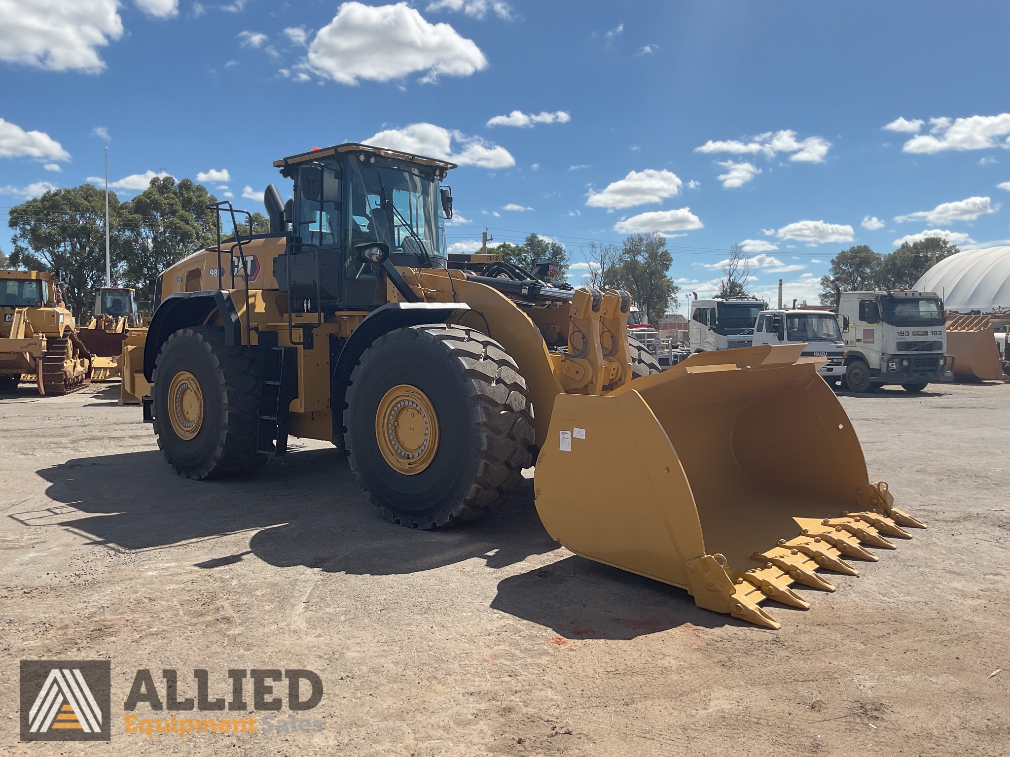
POLYGON ((851 244, 1010 244, 1008 22, 983 1, 6 0, 0 223, 101 176, 105 146, 121 197, 203 174, 262 209, 289 192, 274 159, 374 137, 463 164, 458 249, 535 231, 583 261, 664 231, 701 295, 744 242, 754 291, 813 302, 851 244))

